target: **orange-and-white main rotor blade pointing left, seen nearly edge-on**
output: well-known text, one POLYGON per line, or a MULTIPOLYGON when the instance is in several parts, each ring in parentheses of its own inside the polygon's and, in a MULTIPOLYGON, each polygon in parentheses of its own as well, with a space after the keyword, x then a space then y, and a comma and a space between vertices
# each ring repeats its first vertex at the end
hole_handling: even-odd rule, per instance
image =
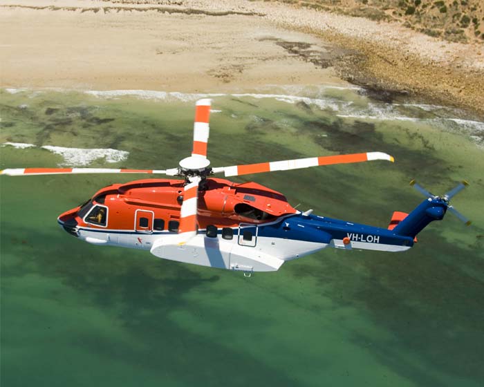
POLYGON ((72 173, 162 173, 168 176, 174 176, 178 173, 178 169, 14 168, 0 171, 0 175, 8 176, 64 175, 72 173))

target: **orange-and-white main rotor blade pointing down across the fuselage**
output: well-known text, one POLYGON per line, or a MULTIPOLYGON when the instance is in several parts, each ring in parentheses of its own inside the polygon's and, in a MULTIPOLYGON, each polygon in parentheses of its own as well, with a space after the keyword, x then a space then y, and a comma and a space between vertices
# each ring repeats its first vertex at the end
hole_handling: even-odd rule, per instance
POLYGON ((185 185, 183 203, 180 209, 180 226, 176 238, 178 245, 184 245, 188 240, 196 236, 196 211, 198 209, 198 184, 201 178, 194 176, 189 179, 189 184, 185 185))

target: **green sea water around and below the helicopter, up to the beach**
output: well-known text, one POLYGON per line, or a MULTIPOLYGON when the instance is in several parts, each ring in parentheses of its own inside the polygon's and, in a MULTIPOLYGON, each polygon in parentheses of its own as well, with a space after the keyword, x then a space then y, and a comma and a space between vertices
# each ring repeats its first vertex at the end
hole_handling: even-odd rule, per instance
MULTIPOLYGON (((465 178, 453 205, 472 227, 449 214, 409 252, 326 249, 248 279, 95 247, 57 226, 100 187, 136 177, 1 176, 2 386, 480 386, 484 124, 372 96, 331 87, 212 95, 212 165, 385 151, 395 164, 234 180, 384 227, 422 199, 412 178, 434 193, 465 178)), ((129 152, 91 167, 175 167, 191 151, 198 97, 2 91, 0 142, 35 147, 0 148, 0 168, 73 162, 45 146, 129 152)))

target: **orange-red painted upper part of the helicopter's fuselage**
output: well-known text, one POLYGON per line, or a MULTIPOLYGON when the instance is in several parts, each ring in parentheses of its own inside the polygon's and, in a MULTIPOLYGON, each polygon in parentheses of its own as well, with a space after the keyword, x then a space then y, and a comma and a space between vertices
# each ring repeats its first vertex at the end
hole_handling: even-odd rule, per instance
MULTIPOLYGON (((60 218, 65 220, 75 216, 79 226, 92 229, 132 231, 135 229, 137 210, 153 211, 154 218, 164 220, 164 229, 167 229, 169 220, 180 219, 181 201, 178 198, 184 196, 183 183, 183 180, 145 179, 100 189, 93 196, 93 204, 108 207, 106 227, 85 223, 77 216, 80 207, 66 211, 60 218), (96 200, 102 197, 104 202, 96 200)), ((202 183, 198 192, 200 229, 205 229, 207 225, 237 227, 239 223, 267 223, 295 212, 282 193, 254 182, 238 184, 210 178, 202 183), (258 216, 250 215, 250 211, 242 211, 251 207, 256 209, 258 216)))

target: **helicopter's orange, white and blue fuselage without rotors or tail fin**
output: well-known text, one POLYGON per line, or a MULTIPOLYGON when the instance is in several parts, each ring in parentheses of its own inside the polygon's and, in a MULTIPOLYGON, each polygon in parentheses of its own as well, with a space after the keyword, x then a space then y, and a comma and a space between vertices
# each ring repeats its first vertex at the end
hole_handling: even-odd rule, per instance
POLYGON ((400 252, 413 238, 391 229, 301 213, 254 182, 210 178, 198 192, 198 234, 176 243, 183 180, 146 179, 101 189, 58 222, 95 245, 149 250, 173 261, 243 272, 274 271, 325 247, 400 252))

